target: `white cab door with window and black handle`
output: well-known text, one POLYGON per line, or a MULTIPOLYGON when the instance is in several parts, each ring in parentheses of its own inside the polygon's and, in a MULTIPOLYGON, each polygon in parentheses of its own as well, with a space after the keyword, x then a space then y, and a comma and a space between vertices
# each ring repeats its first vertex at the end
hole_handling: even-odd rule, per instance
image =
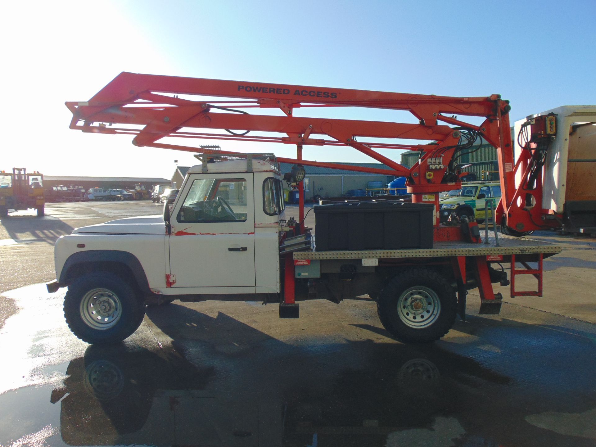
POLYGON ((190 176, 170 222, 172 287, 254 293, 253 174, 190 176))

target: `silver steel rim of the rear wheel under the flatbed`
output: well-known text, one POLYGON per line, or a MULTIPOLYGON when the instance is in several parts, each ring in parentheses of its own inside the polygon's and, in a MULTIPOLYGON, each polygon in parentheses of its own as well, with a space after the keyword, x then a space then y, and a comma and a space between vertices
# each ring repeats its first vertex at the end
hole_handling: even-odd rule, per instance
POLYGON ((429 287, 415 285, 403 291, 398 299, 399 319, 408 327, 421 329, 432 325, 441 312, 437 293, 429 287))

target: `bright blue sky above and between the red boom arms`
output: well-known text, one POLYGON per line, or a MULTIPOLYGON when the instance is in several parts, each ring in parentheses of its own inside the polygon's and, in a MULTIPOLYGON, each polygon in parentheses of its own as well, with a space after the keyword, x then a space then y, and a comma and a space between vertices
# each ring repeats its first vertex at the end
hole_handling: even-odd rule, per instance
MULTIPOLYGON (((511 101, 512 122, 560 105, 596 104, 596 1, 12 3, 0 30, 11 61, 0 75, 6 101, 0 169, 169 177, 174 159, 192 164, 189 154, 136 148, 130 136, 68 129, 64 101, 88 100, 122 71, 499 93, 511 101)), ((359 108, 333 110, 333 116, 413 122, 402 112, 359 108)), ((294 152, 288 145, 219 143, 238 151, 294 152)), ((351 149, 305 154, 370 160, 351 149)), ((399 160, 396 151, 385 154, 399 160)))

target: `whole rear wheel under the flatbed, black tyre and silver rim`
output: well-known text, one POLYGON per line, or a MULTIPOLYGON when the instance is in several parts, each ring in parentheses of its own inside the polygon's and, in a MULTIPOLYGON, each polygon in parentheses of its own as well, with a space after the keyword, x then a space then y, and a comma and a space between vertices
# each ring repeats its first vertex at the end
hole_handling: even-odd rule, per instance
POLYGON ((433 342, 454 324, 457 298, 442 275, 425 268, 411 269, 383 288, 377 312, 386 330, 401 342, 433 342))

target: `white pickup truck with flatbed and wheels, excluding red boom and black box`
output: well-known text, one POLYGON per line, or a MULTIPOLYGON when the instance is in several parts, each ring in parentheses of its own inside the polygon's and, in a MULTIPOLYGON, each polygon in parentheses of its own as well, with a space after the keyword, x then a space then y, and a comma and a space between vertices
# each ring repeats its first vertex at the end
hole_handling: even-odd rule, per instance
MULTIPOLYGON (((523 253, 530 262, 561 251, 501 237, 496 245, 445 241, 432 249, 316 251, 309 229, 287 212, 277 162, 203 161, 188 170, 163 215, 83 226, 60 237, 48 291, 68 287, 67 324, 88 343, 126 339, 141 324, 145 305, 175 299, 277 302, 281 318, 298 318, 297 300, 339 303, 366 294, 396 339, 430 342, 449 331, 457 313, 465 318, 466 289, 478 287, 479 278, 486 297, 481 313, 498 313, 500 294, 487 294, 490 283, 508 284, 507 275, 492 269, 488 256, 508 262, 523 253), (457 277, 458 265, 467 277, 457 277), (496 312, 482 312, 485 302, 496 312)), ((424 234, 432 234, 431 221, 429 213, 424 234)), ((342 231, 334 229, 334 237, 341 239, 342 231)))

